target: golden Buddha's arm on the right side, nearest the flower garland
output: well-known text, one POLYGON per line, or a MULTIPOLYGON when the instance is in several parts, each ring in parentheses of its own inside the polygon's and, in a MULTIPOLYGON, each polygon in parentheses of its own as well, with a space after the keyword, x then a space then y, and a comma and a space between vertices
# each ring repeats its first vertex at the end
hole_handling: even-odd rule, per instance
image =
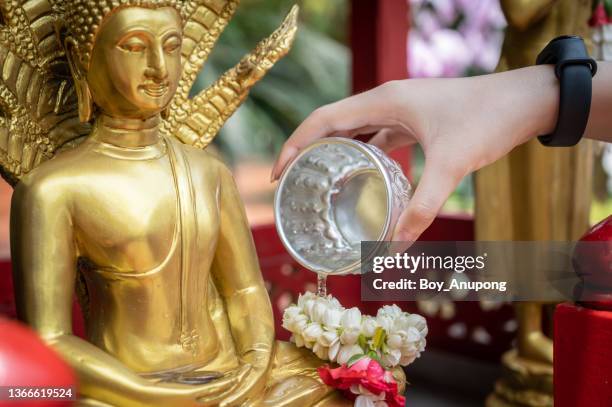
MULTIPOLYGON (((262 390, 274 344, 274 319, 251 230, 230 171, 220 168, 220 232, 213 277, 229 316, 232 338, 251 374, 231 402, 262 390)), ((226 401, 227 402, 227 401, 226 401)))

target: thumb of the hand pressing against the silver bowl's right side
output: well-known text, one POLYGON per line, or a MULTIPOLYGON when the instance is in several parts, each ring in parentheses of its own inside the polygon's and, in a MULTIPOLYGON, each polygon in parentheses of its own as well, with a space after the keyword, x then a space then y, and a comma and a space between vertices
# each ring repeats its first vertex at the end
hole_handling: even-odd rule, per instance
POLYGON ((443 158, 425 159, 425 170, 393 234, 394 241, 414 242, 431 225, 465 174, 443 158))

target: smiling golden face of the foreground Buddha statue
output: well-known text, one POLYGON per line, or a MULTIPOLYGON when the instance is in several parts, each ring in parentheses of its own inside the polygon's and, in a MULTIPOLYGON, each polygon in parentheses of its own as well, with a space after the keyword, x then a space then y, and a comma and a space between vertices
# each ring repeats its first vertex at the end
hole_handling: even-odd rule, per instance
POLYGON ((181 75, 181 19, 170 7, 130 7, 104 20, 87 72, 105 114, 146 119, 172 100, 181 75))

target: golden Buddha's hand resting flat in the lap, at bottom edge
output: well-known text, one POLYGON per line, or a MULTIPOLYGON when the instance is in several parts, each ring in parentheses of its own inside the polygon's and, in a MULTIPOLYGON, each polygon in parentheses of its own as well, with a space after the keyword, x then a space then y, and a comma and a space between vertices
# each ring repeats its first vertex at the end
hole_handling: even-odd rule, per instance
POLYGON ((227 372, 222 378, 202 385, 178 383, 151 383, 142 391, 142 405, 155 406, 218 406, 222 400, 233 395, 249 377, 251 365, 242 364, 227 372))

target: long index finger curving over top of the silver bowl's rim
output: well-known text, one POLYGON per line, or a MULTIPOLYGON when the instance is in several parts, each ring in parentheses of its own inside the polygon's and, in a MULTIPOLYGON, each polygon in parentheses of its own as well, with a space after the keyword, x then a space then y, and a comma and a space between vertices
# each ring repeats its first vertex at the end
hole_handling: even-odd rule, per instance
POLYGON ((384 97, 386 89, 379 86, 315 110, 285 142, 274 164, 272 179, 278 179, 297 153, 316 139, 366 126, 392 124, 389 98, 384 97))

